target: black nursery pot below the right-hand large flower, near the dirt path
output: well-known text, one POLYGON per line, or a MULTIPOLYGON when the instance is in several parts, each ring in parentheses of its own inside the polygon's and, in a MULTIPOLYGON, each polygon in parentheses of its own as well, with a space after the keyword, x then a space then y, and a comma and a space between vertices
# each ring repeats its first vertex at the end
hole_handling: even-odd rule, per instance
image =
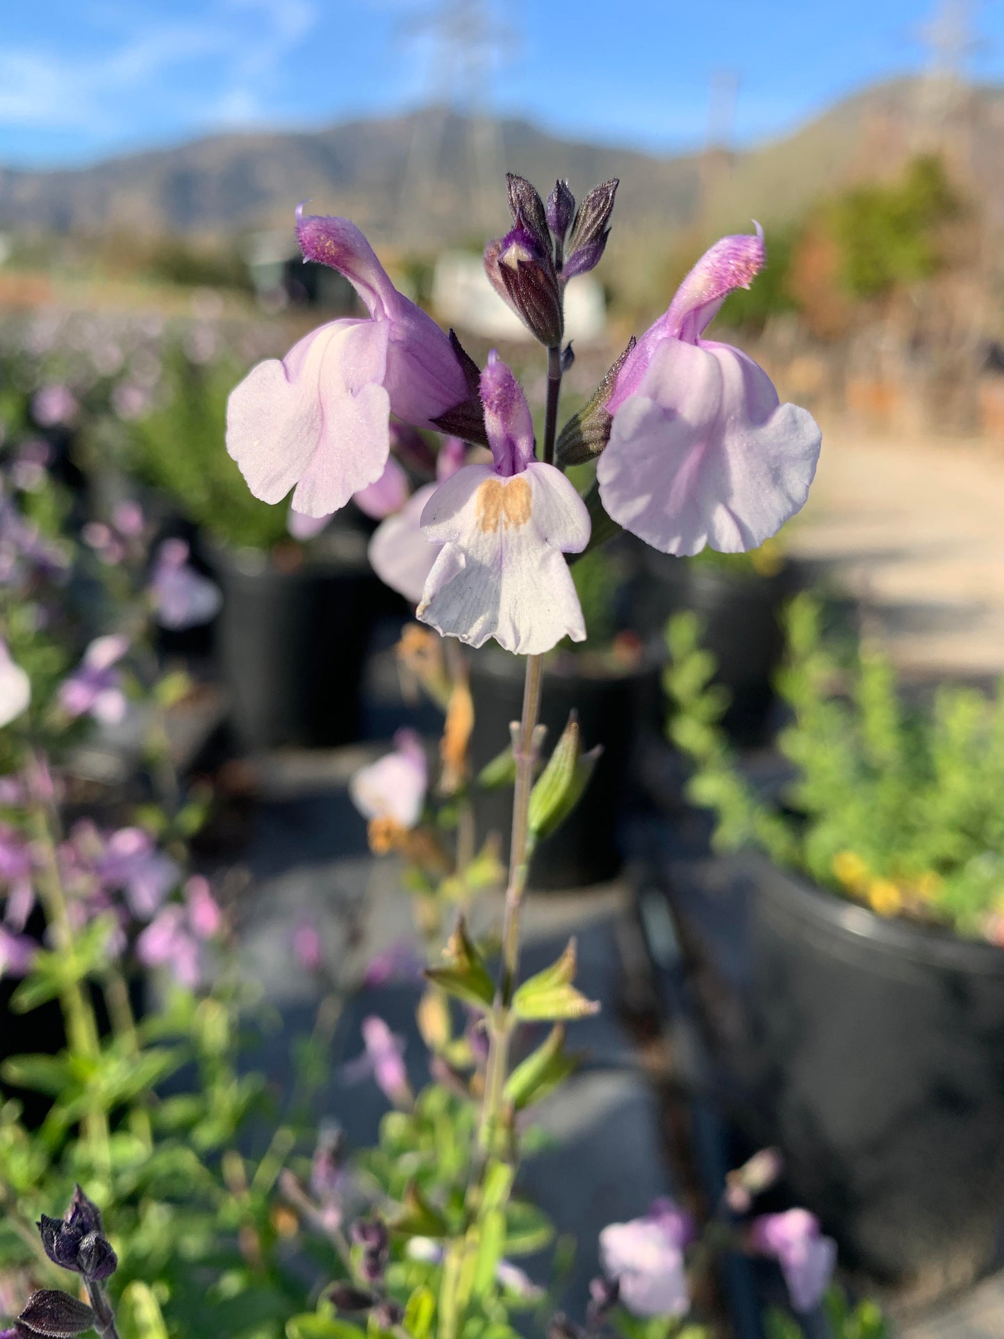
POLYGON ((632 581, 631 621, 665 655, 667 620, 683 609, 699 615, 701 644, 718 664, 715 682, 730 692, 723 726, 738 743, 755 743, 774 703, 771 683, 784 651, 780 611, 795 585, 790 565, 771 576, 736 574, 645 545, 632 581))

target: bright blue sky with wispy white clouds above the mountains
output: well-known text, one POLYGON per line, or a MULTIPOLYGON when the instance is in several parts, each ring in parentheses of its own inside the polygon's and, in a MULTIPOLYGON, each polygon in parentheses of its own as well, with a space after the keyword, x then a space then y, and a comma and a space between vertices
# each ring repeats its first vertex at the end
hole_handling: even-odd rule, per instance
MULTIPOLYGON (((921 68, 934 12, 933 0, 481 3, 501 54, 448 71, 427 23, 444 0, 0 0, 0 165, 462 100, 471 71, 497 111, 665 151, 701 142, 712 79, 735 80, 735 138, 750 142, 921 68)), ((1004 0, 969 8, 967 68, 1004 79, 1004 0)))

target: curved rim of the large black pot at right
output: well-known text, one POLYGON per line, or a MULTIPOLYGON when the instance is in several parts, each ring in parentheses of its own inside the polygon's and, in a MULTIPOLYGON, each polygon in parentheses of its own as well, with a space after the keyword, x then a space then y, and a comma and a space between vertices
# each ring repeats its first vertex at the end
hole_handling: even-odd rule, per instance
POLYGON ((758 894, 798 919, 822 925, 851 945, 862 941, 908 961, 932 967, 956 967, 1004 976, 1004 949, 988 940, 965 939, 938 925, 878 916, 867 907, 847 901, 811 880, 775 865, 763 852, 747 848, 742 853, 744 870, 758 894))

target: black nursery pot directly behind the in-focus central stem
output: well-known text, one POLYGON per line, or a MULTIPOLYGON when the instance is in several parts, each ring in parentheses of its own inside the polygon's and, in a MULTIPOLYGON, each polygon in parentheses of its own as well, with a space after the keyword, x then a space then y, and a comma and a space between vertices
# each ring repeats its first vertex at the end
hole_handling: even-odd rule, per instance
MULTIPOLYGON (((471 762, 475 773, 509 743, 510 722, 518 720, 523 702, 525 656, 483 647, 469 657, 474 696, 471 762)), ((592 671, 578 656, 564 655, 543 671, 541 722, 548 727, 545 755, 557 743, 574 708, 582 744, 602 744, 602 755, 585 794, 569 818, 539 844, 530 864, 529 882, 539 890, 584 888, 613 878, 622 856, 617 828, 629 789, 631 761, 640 723, 653 710, 657 671, 651 667, 592 671)), ((475 817, 482 837, 502 837, 509 856, 513 830, 513 791, 475 793, 475 817)))

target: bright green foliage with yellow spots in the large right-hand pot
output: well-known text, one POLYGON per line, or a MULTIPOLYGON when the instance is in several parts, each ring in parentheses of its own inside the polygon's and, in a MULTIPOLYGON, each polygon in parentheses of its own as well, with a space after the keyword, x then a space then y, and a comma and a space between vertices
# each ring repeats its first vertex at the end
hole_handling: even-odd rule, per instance
POLYGON ((788 608, 779 688, 794 720, 779 746, 795 770, 784 807, 736 767, 699 625, 669 624, 669 735, 695 762, 689 794, 718 814, 716 844, 752 844, 822 886, 884 915, 999 937, 1004 915, 1004 686, 993 700, 944 687, 906 707, 889 663, 841 655, 819 605, 788 608))

